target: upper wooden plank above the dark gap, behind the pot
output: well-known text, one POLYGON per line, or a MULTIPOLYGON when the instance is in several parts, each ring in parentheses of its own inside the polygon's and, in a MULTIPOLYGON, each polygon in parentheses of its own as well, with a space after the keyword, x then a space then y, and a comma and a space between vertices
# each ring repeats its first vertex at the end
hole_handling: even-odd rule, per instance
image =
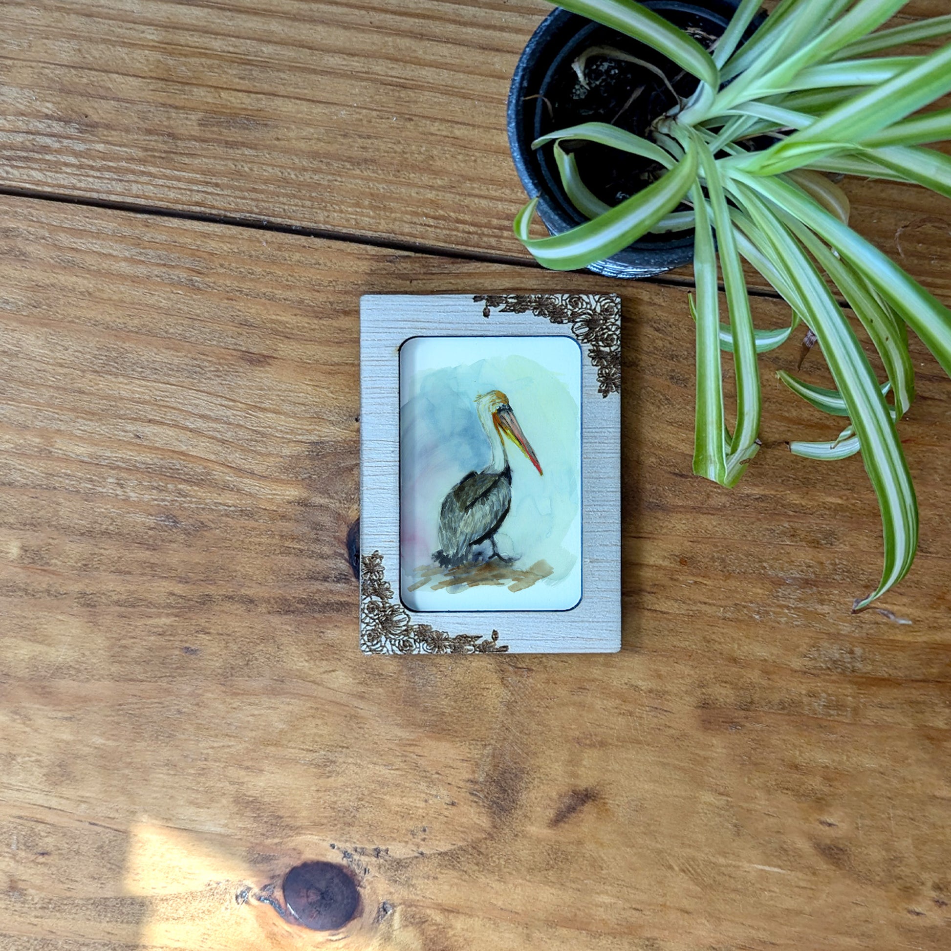
MULTIPOLYGON (((943 7, 914 0, 905 13, 943 7)), ((12 0, 0 8, 0 187, 527 261, 505 103, 550 9, 12 0)), ((946 205, 896 184, 849 190, 859 229, 890 253, 901 233, 902 262, 951 300, 946 205)))

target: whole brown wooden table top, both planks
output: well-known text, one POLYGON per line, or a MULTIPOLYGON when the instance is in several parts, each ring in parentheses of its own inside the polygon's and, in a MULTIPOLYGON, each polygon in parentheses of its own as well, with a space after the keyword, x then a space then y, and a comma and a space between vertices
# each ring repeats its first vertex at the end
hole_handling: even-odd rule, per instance
MULTIPOLYGON (((857 458, 786 450, 829 433, 769 372, 798 341, 726 492, 689 271, 514 242, 546 10, 0 8, 5 951, 951 946, 951 382, 916 345, 921 551, 851 616, 879 517, 857 458), (566 289, 624 299, 624 650, 362 657, 359 295, 566 289), (359 883, 338 933, 279 914, 310 860, 359 883)), ((949 206, 848 187, 951 301, 949 206)))

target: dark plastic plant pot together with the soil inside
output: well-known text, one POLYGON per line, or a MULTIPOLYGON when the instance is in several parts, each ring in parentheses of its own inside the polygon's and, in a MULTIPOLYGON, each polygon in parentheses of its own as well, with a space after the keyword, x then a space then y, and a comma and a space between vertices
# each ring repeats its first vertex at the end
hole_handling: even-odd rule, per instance
MULTIPOLYGON (((737 2, 646 0, 644 6, 709 42, 727 28, 737 2)), ((758 20, 762 19, 761 14, 758 20)), ((588 220, 566 193, 559 162, 577 160, 574 175, 597 193, 590 199, 595 206, 630 197, 658 165, 650 156, 638 158, 601 143, 588 142, 572 150, 581 143, 534 148, 534 142, 558 128, 592 119, 645 137, 650 123, 694 87, 696 80, 662 53, 564 7, 555 8, 519 58, 508 107, 515 168, 525 190, 538 196, 536 210, 549 230, 567 231, 588 220)), ((692 218, 674 216, 672 223, 677 226, 654 228, 609 259, 592 262, 589 269, 611 277, 645 278, 689 263, 692 218)))

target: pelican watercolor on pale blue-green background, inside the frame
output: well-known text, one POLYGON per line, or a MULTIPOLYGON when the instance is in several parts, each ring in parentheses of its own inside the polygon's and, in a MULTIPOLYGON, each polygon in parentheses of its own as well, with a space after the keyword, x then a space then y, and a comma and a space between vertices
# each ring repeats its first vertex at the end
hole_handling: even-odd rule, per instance
POLYGON ((400 595, 411 611, 581 598, 581 351, 570 337, 400 348, 400 595))

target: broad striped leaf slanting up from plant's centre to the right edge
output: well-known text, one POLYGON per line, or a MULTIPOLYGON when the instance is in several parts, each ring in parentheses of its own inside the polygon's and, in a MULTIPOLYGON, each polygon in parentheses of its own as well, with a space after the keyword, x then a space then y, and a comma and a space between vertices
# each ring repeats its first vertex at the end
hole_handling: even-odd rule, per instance
MULTIPOLYGON (((760 174, 786 171, 800 161, 803 146, 826 143, 860 142, 885 126, 903 119, 911 112, 927 106, 951 90, 951 43, 925 56, 917 66, 905 69, 894 79, 872 87, 830 109, 811 126, 794 132, 786 142, 760 152, 747 165, 760 174), (770 171, 765 173, 764 168, 770 171)), ((816 156, 818 157, 818 156, 816 156)))

